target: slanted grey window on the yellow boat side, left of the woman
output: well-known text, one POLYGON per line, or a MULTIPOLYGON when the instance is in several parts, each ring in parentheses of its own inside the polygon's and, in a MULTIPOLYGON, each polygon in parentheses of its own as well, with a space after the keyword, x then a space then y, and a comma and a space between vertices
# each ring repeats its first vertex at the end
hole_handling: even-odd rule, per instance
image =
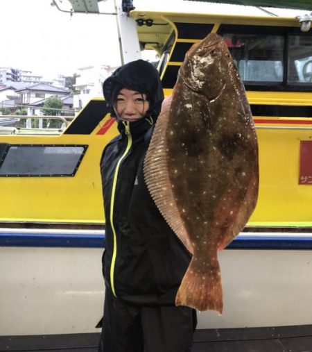
POLYGON ((0 176, 74 176, 86 145, 17 145, 6 147, 0 176))

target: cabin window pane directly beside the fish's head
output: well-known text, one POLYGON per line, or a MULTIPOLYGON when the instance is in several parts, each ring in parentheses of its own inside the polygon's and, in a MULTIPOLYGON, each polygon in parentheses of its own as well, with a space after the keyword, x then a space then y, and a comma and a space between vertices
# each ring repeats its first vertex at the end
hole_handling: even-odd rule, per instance
POLYGON ((244 82, 281 83, 284 75, 282 35, 223 35, 244 82))

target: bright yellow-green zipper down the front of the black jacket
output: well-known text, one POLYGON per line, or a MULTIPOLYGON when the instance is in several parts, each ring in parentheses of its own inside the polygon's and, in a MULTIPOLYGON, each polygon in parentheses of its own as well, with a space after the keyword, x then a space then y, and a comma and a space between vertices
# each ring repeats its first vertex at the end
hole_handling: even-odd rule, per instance
POLYGON ((112 288, 112 293, 116 297, 116 291, 114 287, 114 269, 115 269, 115 264, 116 264, 116 255, 117 255, 117 236, 116 236, 116 231, 115 231, 115 226, 114 226, 114 199, 115 199, 115 193, 116 193, 116 184, 117 184, 117 178, 118 178, 118 173, 119 173, 119 167, 121 165, 122 160, 125 158, 125 156, 128 154, 128 151, 131 147, 132 144, 132 136, 130 133, 130 125, 129 121, 123 122, 125 125, 125 134, 128 136, 128 143, 125 148, 125 151, 119 161, 117 162, 116 169, 114 172, 114 179, 113 179, 113 184, 112 184, 112 196, 110 198, 110 224, 112 226, 112 233, 113 233, 113 254, 112 254, 112 262, 110 265, 110 287, 112 288))

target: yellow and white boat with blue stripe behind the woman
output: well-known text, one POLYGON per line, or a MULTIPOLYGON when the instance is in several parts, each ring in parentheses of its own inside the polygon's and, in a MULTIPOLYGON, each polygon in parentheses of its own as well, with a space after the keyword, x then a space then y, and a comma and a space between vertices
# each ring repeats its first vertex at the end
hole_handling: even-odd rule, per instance
MULTIPOLYGON (((311 324, 312 31, 295 17, 153 12, 131 3, 118 9, 121 42, 137 38, 123 62, 139 58, 140 47, 157 51, 168 95, 191 45, 223 35, 259 138, 257 208, 219 255, 223 315, 200 312, 198 329, 311 324)), ((309 1, 297 3, 311 10, 309 1)), ((105 294, 98 165, 116 134, 100 98, 57 135, 0 131, 1 335, 97 331, 105 294)))

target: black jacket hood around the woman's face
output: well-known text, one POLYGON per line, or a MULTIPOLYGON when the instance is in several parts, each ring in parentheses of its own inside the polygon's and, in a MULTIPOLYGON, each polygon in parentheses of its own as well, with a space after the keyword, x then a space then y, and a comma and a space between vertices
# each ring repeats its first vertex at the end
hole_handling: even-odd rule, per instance
POLYGON ((141 59, 128 62, 116 69, 112 76, 104 81, 104 98, 110 106, 111 115, 114 117, 116 117, 114 99, 116 99, 116 95, 123 88, 146 94, 150 103, 150 108, 146 115, 153 117, 159 115, 162 101, 164 100, 164 93, 159 73, 150 62, 141 59))

